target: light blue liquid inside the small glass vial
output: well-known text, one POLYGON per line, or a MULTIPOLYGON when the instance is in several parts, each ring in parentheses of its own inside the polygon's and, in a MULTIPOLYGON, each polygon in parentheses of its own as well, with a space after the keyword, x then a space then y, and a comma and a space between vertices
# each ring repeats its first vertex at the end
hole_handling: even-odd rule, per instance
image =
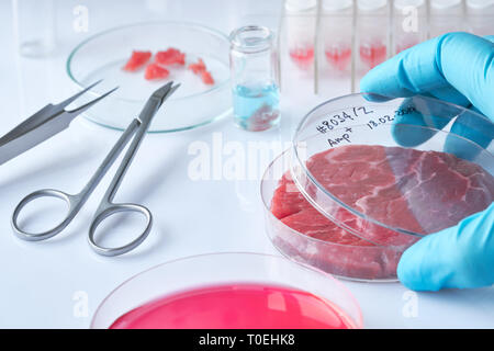
POLYGON ((237 86, 233 90, 235 123, 244 129, 266 131, 280 123, 280 92, 278 86, 237 86))

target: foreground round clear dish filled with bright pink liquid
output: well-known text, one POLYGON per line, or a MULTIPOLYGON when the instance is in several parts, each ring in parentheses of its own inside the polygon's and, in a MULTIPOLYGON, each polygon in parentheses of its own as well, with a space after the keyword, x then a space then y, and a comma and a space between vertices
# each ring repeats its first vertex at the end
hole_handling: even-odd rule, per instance
POLYGON ((282 257, 242 252, 178 259, 139 273, 116 287, 91 321, 91 328, 314 325, 362 328, 362 316, 329 274, 282 257))

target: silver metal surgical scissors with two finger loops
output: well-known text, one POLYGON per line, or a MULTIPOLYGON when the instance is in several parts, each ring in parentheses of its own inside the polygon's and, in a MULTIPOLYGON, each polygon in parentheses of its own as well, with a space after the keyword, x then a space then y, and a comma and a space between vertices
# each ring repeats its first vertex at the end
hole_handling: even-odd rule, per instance
POLYGON ((125 156, 123 157, 122 163, 120 165, 119 169, 116 170, 116 173, 108 188, 103 199, 101 200, 101 203, 94 214, 94 217, 91 222, 91 225, 89 227, 89 236, 88 241, 90 247, 99 254, 102 256, 119 256, 125 252, 128 252, 136 248, 138 245, 141 245, 144 239, 146 239, 147 235, 150 231, 151 225, 153 225, 153 215, 143 205, 132 204, 132 203, 113 203, 113 197, 119 190, 120 184, 122 183, 122 180, 125 176, 126 170, 128 169, 139 145, 143 140, 146 132, 149 128, 150 122, 155 114, 158 112, 158 109, 161 106, 161 104, 167 100, 175 90, 179 87, 179 84, 175 84, 173 82, 169 82, 166 86, 159 88, 156 90, 151 97, 147 100, 143 111, 141 112, 139 116, 137 118, 134 118, 128 127, 125 129, 125 132, 122 134, 120 139, 116 141, 116 144, 113 146, 109 155, 105 157, 101 166, 98 168, 96 173, 92 176, 91 180, 87 183, 87 185, 82 189, 81 192, 78 194, 71 195, 68 193, 65 193, 59 190, 53 190, 53 189, 44 189, 35 191, 27 196, 25 196, 15 207, 13 214, 12 214, 12 227, 14 230, 14 234, 23 239, 29 241, 38 241, 48 239, 57 234, 59 234, 61 230, 64 230, 69 223, 74 219, 74 217, 77 215, 77 213, 80 211, 82 205, 86 203, 88 197, 91 195, 92 191, 97 188, 97 185, 100 183, 101 179, 104 177, 104 174, 108 172, 108 170, 111 168, 111 166, 114 163, 115 159, 119 157, 119 155, 122 152, 122 150, 125 148, 125 146, 128 144, 132 137, 132 144, 130 145, 125 156), (68 205, 68 214, 67 217, 55 228, 33 234, 24 231, 20 228, 18 224, 19 215, 22 211, 22 208, 30 203, 31 201, 38 199, 38 197, 58 197, 64 200, 68 205), (103 222, 106 217, 120 213, 120 212, 135 212, 144 215, 146 218, 146 227, 141 233, 141 235, 135 238, 133 241, 121 246, 116 248, 109 248, 109 247, 102 247, 97 244, 94 239, 94 235, 97 231, 98 226, 103 222))

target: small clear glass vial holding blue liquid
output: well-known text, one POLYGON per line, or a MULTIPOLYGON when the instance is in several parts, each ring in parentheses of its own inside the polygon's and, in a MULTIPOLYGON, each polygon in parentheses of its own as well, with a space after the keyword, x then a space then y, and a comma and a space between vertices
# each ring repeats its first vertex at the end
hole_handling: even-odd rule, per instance
POLYGON ((233 31, 229 38, 236 125, 252 132, 278 126, 280 93, 273 34, 267 27, 248 25, 233 31))

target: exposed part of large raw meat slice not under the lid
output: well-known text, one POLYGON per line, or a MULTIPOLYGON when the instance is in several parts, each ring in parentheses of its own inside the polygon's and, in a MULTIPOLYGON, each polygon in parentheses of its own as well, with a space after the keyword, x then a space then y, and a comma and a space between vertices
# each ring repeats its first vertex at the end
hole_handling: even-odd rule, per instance
MULTIPOLYGON (((400 254, 389 249, 392 254, 382 261, 385 249, 363 240, 330 222, 299 192, 295 183, 287 172, 279 182, 271 200, 271 213, 288 227, 313 239, 337 245, 318 245, 307 241, 285 230, 276 229, 274 245, 290 257, 317 267, 332 274, 356 279, 384 279, 395 274, 400 254), (390 265, 392 268, 390 269, 390 265), (392 271, 390 274, 389 271, 392 271)), ((356 220, 355 216, 348 216, 356 220)))

